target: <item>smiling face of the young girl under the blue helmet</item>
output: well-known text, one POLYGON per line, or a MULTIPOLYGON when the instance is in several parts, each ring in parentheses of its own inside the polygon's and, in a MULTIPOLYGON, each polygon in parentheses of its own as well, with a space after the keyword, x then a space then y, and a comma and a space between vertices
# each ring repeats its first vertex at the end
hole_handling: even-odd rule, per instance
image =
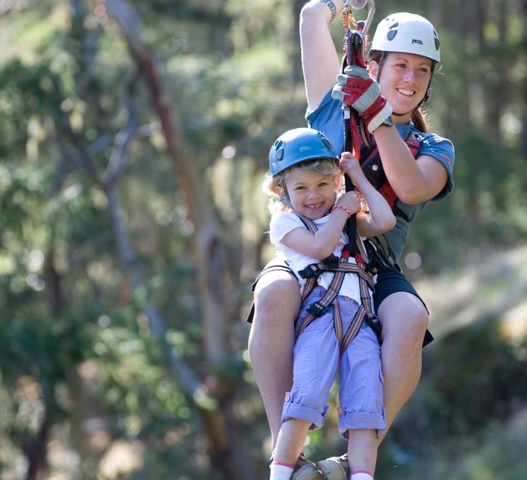
MULTIPOLYGON (((285 185, 295 212, 315 220, 327 215, 333 207, 339 176, 293 168, 285 174, 285 185)), ((279 190, 279 194, 285 197, 283 189, 279 190)))

